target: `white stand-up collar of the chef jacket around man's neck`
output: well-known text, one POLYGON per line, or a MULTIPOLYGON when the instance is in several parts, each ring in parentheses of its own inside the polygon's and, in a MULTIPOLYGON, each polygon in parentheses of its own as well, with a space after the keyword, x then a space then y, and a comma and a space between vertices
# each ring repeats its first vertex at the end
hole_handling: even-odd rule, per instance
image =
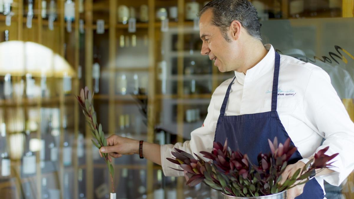
POLYGON ((264 47, 268 51, 268 53, 260 62, 256 64, 256 66, 248 69, 246 74, 244 74, 243 72, 235 71, 236 80, 239 84, 244 85, 245 80, 257 80, 259 77, 263 76, 269 70, 274 68, 274 48, 270 44, 265 44, 264 47))

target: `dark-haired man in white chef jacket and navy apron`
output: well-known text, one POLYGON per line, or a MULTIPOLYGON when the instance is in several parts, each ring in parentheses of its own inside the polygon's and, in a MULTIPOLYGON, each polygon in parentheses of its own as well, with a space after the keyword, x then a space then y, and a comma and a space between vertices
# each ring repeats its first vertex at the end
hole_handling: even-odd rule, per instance
POLYGON ((233 150, 247 153, 255 163, 259 152, 269 151, 267 139, 285 142, 290 137, 298 152, 280 183, 303 168, 317 150, 329 146, 328 154, 339 153, 336 167, 288 191, 288 198, 324 198, 323 181, 338 186, 354 165, 354 124, 329 76, 313 64, 280 56, 270 44, 263 46, 256 9, 247 0, 211 1, 200 12, 199 25, 201 54, 215 60, 221 72, 235 72, 213 93, 204 125, 191 133, 190 141, 175 145, 111 136, 110 146, 101 152, 114 158, 140 152, 172 176, 182 175, 166 160, 175 147, 198 153, 211 151, 213 141, 227 139, 233 150), (326 140, 320 146, 322 138, 326 140))

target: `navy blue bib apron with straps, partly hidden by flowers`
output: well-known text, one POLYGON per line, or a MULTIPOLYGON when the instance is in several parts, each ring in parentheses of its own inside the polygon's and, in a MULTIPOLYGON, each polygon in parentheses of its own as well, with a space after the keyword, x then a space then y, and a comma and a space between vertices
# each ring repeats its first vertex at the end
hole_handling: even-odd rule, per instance
MULTIPOLYGON (((229 99, 231 85, 230 83, 222 107, 220 116, 216 125, 214 141, 224 143, 227 139, 228 146, 232 150, 240 150, 241 153, 247 154, 253 164, 258 165, 257 156, 260 152, 269 153, 270 148, 268 139, 274 140, 278 138, 278 143, 284 143, 289 135, 285 131, 284 126, 276 112, 276 101, 278 97, 278 78, 279 78, 280 55, 275 52, 275 69, 273 77, 272 92, 272 110, 270 112, 225 116, 226 104, 229 99)), ((290 141, 294 146, 294 143, 290 141)), ((289 164, 296 163, 302 157, 296 151, 290 158, 289 164)), ((323 199, 324 193, 320 184, 315 178, 306 183, 304 191, 296 199, 323 199)))

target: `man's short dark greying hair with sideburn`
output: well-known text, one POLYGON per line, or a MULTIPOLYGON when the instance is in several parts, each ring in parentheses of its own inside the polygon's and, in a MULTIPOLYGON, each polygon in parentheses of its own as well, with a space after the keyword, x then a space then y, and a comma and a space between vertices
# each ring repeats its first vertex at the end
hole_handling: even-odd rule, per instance
POLYGON ((231 42, 227 30, 232 21, 237 20, 254 38, 262 41, 261 24, 257 10, 248 0, 213 0, 199 12, 199 17, 208 9, 212 9, 212 24, 219 27, 226 41, 231 42))

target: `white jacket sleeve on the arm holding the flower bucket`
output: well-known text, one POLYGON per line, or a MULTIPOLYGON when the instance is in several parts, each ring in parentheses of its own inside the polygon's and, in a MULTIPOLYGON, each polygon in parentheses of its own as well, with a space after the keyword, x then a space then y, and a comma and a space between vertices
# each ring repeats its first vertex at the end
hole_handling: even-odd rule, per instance
MULTIPOLYGON (((309 63, 307 63, 309 64, 309 63)), ((310 75, 304 95, 307 124, 325 138, 316 152, 329 146, 327 155, 339 153, 329 175, 321 176, 328 183, 339 186, 354 169, 354 124, 335 89, 329 75, 316 68, 310 75)))

